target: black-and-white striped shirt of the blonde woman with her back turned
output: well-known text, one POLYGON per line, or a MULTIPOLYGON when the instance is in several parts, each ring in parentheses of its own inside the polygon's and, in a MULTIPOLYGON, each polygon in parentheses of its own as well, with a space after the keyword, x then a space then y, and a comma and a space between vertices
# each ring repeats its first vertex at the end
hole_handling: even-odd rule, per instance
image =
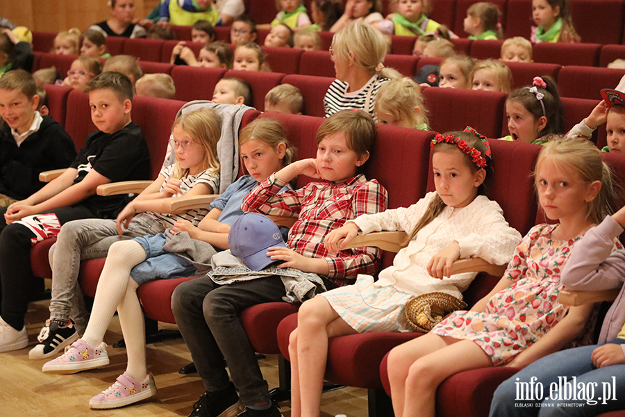
POLYGON ((326 111, 326 117, 330 117, 334 113, 342 110, 365 110, 365 106, 367 104, 367 94, 369 94, 369 91, 371 91, 371 97, 369 99, 369 114, 373 116, 376 93, 378 92, 380 85, 386 81, 389 81, 389 79, 381 79, 378 78, 377 75, 374 75, 365 85, 363 85, 363 88, 360 88, 360 90, 347 92, 349 83, 334 80, 330 84, 330 87, 328 87, 328 92, 326 92, 326 96, 324 97, 324 110, 326 111))

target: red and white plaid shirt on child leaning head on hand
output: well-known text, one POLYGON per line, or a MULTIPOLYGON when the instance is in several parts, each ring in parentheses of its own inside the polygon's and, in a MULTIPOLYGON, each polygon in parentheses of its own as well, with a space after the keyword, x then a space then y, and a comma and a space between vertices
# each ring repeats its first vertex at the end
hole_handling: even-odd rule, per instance
POLYGON ((380 250, 359 247, 331 256, 323 240, 347 220, 386 210, 388 195, 378 181, 367 181, 359 174, 342 183, 312 182, 278 195, 284 185, 274 174, 270 175, 245 197, 243 211, 297 217, 289 231, 288 246, 303 256, 326 259, 330 268, 328 278, 338 286, 351 284, 358 274, 376 272, 380 250))

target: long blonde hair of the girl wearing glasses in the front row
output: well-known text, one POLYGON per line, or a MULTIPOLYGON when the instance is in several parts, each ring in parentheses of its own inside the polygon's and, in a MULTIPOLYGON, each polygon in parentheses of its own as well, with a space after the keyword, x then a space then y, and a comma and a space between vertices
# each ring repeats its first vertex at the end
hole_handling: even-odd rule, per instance
MULTIPOLYGON (((192 140, 198 142, 204 148, 204 161, 202 170, 219 170, 219 158, 217 158, 217 142, 222 134, 222 120, 212 108, 192 111, 176 117, 172 125, 180 127, 192 140)), ((178 157, 174 161, 174 178, 181 179, 188 175, 188 170, 183 170, 178 157)))

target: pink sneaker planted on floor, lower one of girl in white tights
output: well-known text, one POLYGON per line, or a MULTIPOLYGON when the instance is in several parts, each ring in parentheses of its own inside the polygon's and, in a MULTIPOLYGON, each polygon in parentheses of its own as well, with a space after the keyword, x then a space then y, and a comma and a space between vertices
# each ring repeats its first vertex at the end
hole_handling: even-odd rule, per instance
POLYGON ((102 391, 89 402, 94 409, 110 409, 124 407, 156 395, 156 384, 152 374, 148 374, 143 382, 130 376, 127 372, 117 377, 115 384, 102 391))

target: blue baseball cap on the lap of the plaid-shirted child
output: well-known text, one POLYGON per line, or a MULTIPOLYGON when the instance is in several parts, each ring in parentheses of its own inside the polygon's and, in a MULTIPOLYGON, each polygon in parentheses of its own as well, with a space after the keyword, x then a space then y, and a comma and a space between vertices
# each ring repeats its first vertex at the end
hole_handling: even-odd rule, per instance
POLYGON ((267 248, 288 247, 276 223, 259 213, 243 213, 234 222, 228 233, 228 246, 234 256, 255 271, 278 262, 267 256, 267 248))

